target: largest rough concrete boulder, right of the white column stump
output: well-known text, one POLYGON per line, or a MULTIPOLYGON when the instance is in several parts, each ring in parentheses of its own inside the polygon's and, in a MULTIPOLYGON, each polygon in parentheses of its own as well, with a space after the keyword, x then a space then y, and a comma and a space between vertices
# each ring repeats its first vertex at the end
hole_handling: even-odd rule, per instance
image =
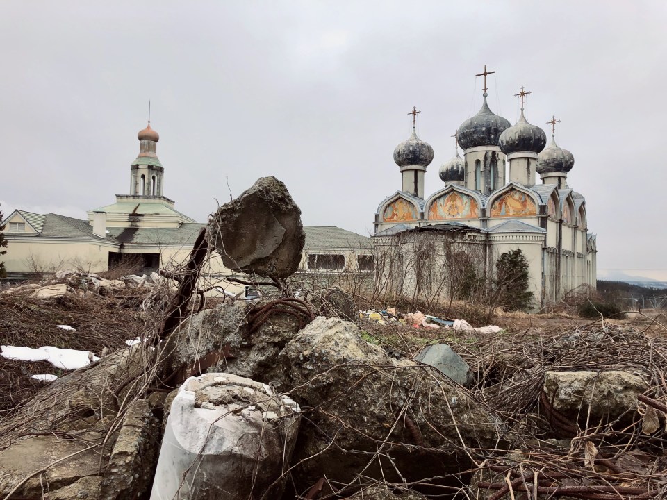
POLYGON ((415 490, 441 493, 461 484, 447 474, 470 467, 463 443, 493 448, 500 437, 498 419, 466 389, 436 369, 389 358, 351 322, 316 318, 279 363, 290 394, 311 409, 295 449, 299 493, 322 474, 343 484, 358 483, 357 474, 397 483, 434 478, 428 482, 435 486, 415 490), (429 451, 420 453, 422 447, 429 451))

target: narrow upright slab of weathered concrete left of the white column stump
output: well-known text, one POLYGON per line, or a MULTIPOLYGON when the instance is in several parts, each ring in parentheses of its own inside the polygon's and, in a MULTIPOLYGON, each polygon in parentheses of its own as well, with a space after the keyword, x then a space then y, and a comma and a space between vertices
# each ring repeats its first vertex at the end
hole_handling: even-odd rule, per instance
POLYGON ((101 483, 100 500, 140 497, 151 485, 160 429, 148 401, 130 403, 101 483))

